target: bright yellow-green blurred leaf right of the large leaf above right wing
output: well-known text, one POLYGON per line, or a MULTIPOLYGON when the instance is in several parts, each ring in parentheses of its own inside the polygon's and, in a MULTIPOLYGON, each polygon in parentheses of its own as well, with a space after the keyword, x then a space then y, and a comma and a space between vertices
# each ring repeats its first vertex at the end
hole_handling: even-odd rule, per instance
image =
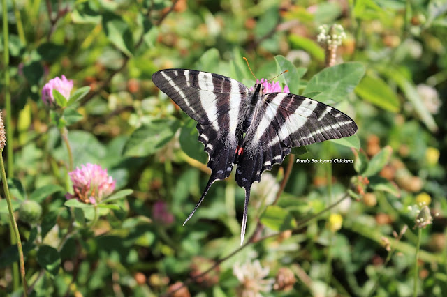
POLYGON ((396 93, 379 77, 366 75, 355 91, 364 100, 390 112, 398 112, 400 109, 396 93))

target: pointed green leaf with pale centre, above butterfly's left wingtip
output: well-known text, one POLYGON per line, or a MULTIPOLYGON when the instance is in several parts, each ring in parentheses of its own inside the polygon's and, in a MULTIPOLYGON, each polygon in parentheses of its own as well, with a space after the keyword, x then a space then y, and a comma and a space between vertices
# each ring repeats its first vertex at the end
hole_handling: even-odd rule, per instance
POLYGON ((103 28, 105 36, 126 56, 132 56, 133 52, 133 38, 132 32, 122 17, 112 13, 103 15, 103 28))

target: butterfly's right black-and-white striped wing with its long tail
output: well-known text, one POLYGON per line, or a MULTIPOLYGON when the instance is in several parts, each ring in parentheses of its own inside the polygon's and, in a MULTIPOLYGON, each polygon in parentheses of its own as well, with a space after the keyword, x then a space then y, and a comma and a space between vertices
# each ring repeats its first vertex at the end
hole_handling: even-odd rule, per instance
MULTIPOLYGON (((265 170, 281 164, 291 148, 356 133, 354 121, 338 109, 290 93, 267 93, 254 112, 237 155, 236 181, 245 188, 247 208, 251 185, 265 170)), ((247 220, 244 211, 242 230, 247 220)))

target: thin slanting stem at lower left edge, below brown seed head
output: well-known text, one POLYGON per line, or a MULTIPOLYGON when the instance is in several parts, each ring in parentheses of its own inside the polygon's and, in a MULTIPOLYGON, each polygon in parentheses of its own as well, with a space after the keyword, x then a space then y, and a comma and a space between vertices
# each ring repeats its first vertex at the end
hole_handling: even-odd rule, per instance
MULTIPOLYGON (((4 0, 3 0, 4 1, 4 0)), ((3 151, 3 150, 2 150, 3 151)), ((6 203, 8 204, 9 220, 10 224, 13 225, 15 241, 17 242, 17 250, 19 251, 19 264, 20 264, 20 276, 22 277, 23 293, 27 296, 27 279, 25 278, 25 264, 22 250, 22 241, 20 241, 19 228, 17 227, 17 222, 15 222, 13 205, 11 204, 11 196, 8 188, 8 181, 6 180, 5 165, 3 164, 3 155, 0 151, 0 171, 1 180, 3 181, 3 191, 5 192, 6 203)))

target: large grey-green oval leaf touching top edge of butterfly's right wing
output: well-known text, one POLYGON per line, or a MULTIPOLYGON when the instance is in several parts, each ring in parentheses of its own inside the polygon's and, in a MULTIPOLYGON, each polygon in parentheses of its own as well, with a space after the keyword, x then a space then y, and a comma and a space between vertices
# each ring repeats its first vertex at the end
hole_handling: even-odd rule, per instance
POLYGON ((315 100, 326 104, 345 100, 365 75, 362 63, 351 62, 324 68, 309 80, 303 96, 311 92, 321 92, 315 100))

